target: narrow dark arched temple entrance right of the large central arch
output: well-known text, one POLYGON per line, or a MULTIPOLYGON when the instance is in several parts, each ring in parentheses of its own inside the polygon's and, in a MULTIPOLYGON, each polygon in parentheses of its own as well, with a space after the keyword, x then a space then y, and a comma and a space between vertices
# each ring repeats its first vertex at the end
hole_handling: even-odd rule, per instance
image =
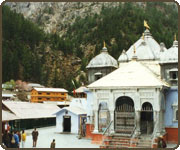
POLYGON ((141 109, 141 134, 152 134, 153 132, 153 108, 148 102, 141 109))

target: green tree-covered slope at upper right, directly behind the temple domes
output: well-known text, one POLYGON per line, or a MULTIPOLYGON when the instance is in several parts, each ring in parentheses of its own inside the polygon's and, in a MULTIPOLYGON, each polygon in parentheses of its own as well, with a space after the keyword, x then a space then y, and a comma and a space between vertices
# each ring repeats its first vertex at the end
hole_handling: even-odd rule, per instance
POLYGON ((94 56, 106 41, 110 54, 117 59, 123 49, 127 50, 139 39, 144 31, 143 21, 147 20, 157 42, 171 47, 173 35, 178 31, 177 9, 162 2, 148 2, 145 9, 134 4, 126 2, 117 7, 103 6, 99 15, 84 19, 77 17, 64 37, 72 39, 78 48, 81 44, 96 45, 94 56), (116 41, 113 44, 110 42, 112 39, 116 41))

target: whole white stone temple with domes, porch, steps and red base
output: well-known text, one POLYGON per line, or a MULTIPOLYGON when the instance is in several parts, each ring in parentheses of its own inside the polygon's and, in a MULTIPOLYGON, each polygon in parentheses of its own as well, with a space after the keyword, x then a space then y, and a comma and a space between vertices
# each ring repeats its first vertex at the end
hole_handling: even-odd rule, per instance
POLYGON ((178 41, 167 49, 144 26, 118 61, 104 43, 87 66, 86 136, 103 148, 155 148, 160 136, 178 142, 178 41))

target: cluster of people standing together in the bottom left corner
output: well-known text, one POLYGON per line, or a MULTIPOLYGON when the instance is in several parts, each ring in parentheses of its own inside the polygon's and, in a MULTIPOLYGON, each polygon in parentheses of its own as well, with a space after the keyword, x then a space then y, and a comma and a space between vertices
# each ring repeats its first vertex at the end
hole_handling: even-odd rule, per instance
POLYGON ((5 130, 5 133, 2 135, 2 143, 7 148, 19 148, 20 143, 22 143, 22 148, 24 148, 26 141, 26 133, 24 130, 22 134, 20 131, 11 131, 5 130))

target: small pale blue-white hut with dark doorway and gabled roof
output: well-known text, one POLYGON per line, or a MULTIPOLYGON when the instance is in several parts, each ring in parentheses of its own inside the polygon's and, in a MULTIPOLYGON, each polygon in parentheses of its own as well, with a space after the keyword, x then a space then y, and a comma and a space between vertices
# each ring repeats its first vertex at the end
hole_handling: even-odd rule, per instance
POLYGON ((78 134, 86 122, 86 111, 83 108, 64 107, 56 113, 56 132, 78 134))

